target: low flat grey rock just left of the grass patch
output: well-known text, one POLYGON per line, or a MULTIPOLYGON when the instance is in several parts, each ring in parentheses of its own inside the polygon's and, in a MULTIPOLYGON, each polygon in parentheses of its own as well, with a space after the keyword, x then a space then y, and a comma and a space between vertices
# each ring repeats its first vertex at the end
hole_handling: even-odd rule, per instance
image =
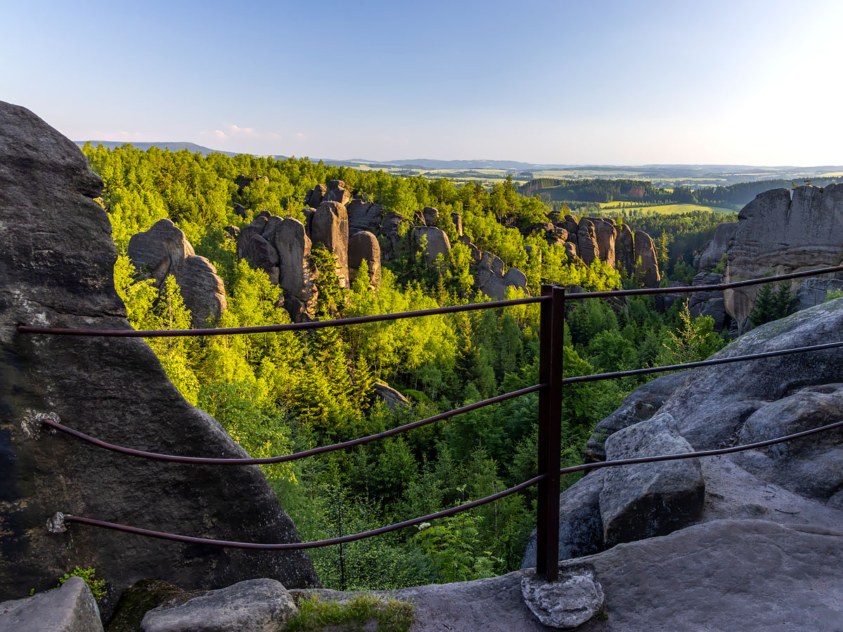
POLYGON ((240 581, 194 597, 187 603, 150 610, 142 632, 281 632, 298 614, 282 583, 269 579, 240 581))

